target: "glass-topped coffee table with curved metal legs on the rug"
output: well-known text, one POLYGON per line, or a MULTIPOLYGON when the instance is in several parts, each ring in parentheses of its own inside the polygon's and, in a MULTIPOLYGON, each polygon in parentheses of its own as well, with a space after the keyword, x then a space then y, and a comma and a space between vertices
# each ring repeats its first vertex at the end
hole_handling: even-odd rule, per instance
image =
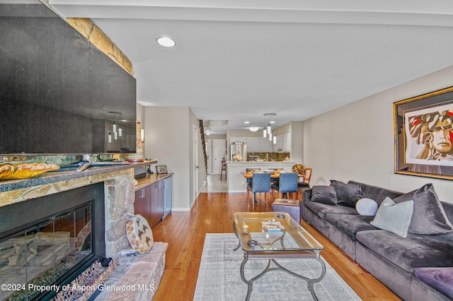
POLYGON ((292 276, 307 281, 308 288, 314 300, 314 283, 321 281, 326 275, 326 265, 321 260, 319 252, 323 246, 306 232, 301 225, 284 212, 237 212, 234 213, 233 230, 239 239, 234 251, 242 248, 243 261, 241 264, 241 279, 248 285, 246 300, 253 290, 253 281, 262 277, 268 271, 281 270, 292 276), (244 268, 248 259, 268 259, 268 266, 257 276, 247 280, 244 268), (321 276, 307 278, 278 264, 277 259, 314 259, 321 264, 321 276), (271 267, 273 263, 275 266, 271 267))

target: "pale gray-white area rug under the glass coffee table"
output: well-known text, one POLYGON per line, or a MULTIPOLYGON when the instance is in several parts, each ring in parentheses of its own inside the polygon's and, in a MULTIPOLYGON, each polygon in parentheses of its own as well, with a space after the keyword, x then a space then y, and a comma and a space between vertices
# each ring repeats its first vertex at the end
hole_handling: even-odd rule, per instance
MULTIPOLYGON (((243 251, 233 251, 238 242, 233 233, 207 233, 193 300, 246 299, 247 285, 241 280, 243 251)), ((279 259, 277 262, 302 276, 321 275, 321 265, 313 259, 279 259)), ((326 276, 314 284, 316 297, 319 300, 361 300, 336 271, 326 261, 324 263, 326 276)), ((258 275, 267 264, 267 259, 249 259, 246 279, 258 275)), ((284 271, 269 271, 253 283, 250 300, 313 300, 313 297, 306 281, 284 271)))

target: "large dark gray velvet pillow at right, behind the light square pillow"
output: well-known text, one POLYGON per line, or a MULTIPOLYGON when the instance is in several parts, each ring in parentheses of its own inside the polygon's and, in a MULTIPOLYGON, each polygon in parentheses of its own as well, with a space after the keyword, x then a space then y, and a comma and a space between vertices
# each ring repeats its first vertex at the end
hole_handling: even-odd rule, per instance
POLYGON ((413 216, 409 232, 415 234, 442 234, 453 231, 452 223, 432 184, 425 184, 415 191, 395 198, 395 202, 413 200, 413 216))

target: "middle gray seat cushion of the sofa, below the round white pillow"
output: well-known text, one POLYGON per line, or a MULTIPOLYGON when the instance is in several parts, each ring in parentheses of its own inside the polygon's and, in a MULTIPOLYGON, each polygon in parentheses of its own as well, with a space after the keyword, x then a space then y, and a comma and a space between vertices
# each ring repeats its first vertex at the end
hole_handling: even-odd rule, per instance
POLYGON ((352 237, 355 237, 357 231, 377 230, 369 223, 372 219, 372 216, 360 216, 358 214, 326 214, 326 220, 352 237))

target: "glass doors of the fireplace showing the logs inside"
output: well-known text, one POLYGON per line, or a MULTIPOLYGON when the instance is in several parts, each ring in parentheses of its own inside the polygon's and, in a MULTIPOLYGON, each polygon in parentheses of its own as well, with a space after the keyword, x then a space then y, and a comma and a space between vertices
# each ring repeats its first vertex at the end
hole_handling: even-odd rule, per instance
MULTIPOLYGON (((93 254, 92 203, 52 216, 0 242, 0 300, 30 300, 93 254)), ((44 293, 49 293, 44 292, 44 293)))

